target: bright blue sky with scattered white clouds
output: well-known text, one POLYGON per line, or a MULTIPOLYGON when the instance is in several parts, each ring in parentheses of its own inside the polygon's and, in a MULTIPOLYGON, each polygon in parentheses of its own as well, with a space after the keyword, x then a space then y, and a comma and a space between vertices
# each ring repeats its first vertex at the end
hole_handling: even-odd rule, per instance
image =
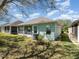
MULTIPOLYGON (((41 0, 43 3, 44 0, 41 0)), ((9 8, 9 13, 14 15, 17 20, 27 21, 37 17, 48 17, 52 20, 56 19, 71 19, 75 20, 79 18, 79 0, 56 0, 57 9, 50 10, 50 8, 45 8, 41 3, 37 3, 34 6, 23 7, 23 11, 26 11, 26 15, 22 15, 21 11, 15 6, 11 5, 9 8)), ((47 3, 46 3, 47 4, 47 3)), ((12 19, 15 21, 16 19, 12 19)))

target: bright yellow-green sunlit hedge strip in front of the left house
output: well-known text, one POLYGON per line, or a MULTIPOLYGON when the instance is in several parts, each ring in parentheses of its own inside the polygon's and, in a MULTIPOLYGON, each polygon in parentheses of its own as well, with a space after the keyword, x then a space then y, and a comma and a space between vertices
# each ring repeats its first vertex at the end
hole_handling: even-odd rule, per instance
POLYGON ((1 34, 0 33, 0 39, 6 39, 9 41, 24 41, 25 37, 24 36, 20 36, 20 35, 11 35, 11 34, 1 34))

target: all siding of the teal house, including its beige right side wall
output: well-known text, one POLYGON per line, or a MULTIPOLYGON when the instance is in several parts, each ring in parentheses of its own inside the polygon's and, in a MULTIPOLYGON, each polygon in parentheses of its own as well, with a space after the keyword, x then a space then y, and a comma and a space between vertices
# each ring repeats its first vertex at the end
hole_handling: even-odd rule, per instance
POLYGON ((55 23, 50 23, 50 24, 36 24, 36 25, 32 25, 32 34, 25 34, 23 32, 22 33, 18 33, 18 34, 19 35, 25 35, 25 36, 28 36, 28 37, 32 37, 33 34, 34 34, 34 26, 37 26, 37 33, 40 34, 40 35, 43 35, 44 39, 55 40, 55 38, 58 37, 60 35, 60 33, 61 33, 60 26, 58 26, 55 23), (46 34, 47 26, 49 26, 50 29, 51 29, 51 34, 50 35, 46 34))

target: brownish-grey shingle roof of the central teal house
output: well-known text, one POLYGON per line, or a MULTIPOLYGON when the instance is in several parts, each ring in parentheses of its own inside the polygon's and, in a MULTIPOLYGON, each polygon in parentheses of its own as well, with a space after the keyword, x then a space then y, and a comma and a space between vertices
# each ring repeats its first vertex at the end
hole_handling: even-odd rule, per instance
POLYGON ((39 17, 39 18, 29 20, 29 21, 19 24, 19 25, 32 25, 32 24, 51 23, 51 22, 54 22, 54 21, 52 21, 48 18, 45 18, 45 17, 39 17))

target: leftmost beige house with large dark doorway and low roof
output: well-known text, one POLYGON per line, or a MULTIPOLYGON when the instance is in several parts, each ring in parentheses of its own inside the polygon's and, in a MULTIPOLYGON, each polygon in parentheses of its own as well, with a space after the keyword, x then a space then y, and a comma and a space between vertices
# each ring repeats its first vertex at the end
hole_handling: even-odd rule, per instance
POLYGON ((23 23, 23 22, 20 20, 17 20, 9 24, 4 24, 0 26, 0 31, 3 33, 18 34, 18 24, 20 23, 23 23))

